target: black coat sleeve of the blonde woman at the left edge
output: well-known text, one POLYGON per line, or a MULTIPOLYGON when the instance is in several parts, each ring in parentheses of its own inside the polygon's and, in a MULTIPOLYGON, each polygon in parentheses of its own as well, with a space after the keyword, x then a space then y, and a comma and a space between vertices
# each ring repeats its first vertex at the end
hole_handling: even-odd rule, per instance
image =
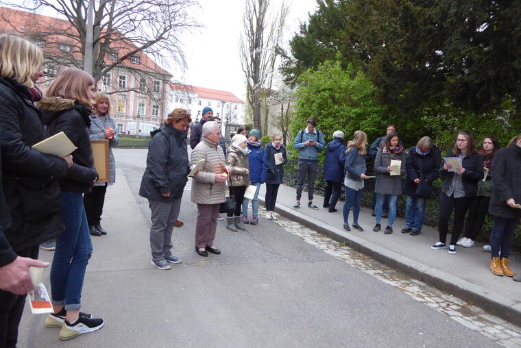
POLYGON ((3 169, 15 171, 19 175, 64 177, 68 167, 66 160, 42 153, 25 144, 19 114, 14 111, 21 107, 12 105, 8 98, 3 99, 5 104, 0 117, 3 169))

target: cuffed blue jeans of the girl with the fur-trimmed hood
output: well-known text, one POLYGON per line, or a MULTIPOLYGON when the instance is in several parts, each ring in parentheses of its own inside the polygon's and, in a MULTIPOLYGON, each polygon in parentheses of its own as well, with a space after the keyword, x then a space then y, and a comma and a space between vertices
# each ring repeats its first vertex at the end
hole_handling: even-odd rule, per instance
POLYGON ((93 253, 83 195, 75 192, 61 194, 65 231, 56 238, 51 267, 51 302, 65 305, 65 310, 81 306, 83 279, 88 259, 93 253))

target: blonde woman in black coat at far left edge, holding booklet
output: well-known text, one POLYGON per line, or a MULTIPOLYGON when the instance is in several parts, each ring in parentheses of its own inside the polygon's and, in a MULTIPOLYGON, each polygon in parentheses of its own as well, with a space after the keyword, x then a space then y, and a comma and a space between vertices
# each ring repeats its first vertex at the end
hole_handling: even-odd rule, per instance
POLYGON ((38 245, 60 234, 60 187, 72 156, 59 158, 32 145, 45 138, 42 99, 35 83, 43 54, 31 42, 0 34, 0 347, 15 347, 25 295, 32 290, 29 266, 38 261, 38 245), (5 198, 4 198, 5 197, 5 198))

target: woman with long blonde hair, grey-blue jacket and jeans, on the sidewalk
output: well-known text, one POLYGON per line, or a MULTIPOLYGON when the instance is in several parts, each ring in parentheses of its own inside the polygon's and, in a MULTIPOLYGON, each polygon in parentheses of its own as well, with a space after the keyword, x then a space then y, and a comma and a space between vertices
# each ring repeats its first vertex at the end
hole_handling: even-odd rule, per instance
POLYGON ((353 141, 349 143, 346 150, 346 177, 343 184, 346 186, 346 202, 343 204, 343 228, 350 231, 349 227, 349 208, 353 207, 353 224, 352 227, 359 231, 363 228, 358 223, 360 215, 360 206, 362 203, 363 180, 367 178, 365 175, 365 155, 367 154, 367 134, 362 131, 354 132, 353 141))

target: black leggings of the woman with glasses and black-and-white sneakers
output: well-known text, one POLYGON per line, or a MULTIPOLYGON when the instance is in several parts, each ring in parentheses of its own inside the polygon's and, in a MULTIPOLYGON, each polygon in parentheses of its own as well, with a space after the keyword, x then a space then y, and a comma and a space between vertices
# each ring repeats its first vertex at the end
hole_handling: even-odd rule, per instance
POLYGON ((467 213, 473 197, 454 198, 454 195, 447 197, 446 194, 441 193, 439 196, 439 214, 438 214, 438 231, 439 241, 446 243, 448 233, 448 220, 452 209, 454 209, 454 225, 452 226, 452 237, 450 238, 450 245, 456 245, 459 234, 463 229, 465 223, 465 214, 467 213))

